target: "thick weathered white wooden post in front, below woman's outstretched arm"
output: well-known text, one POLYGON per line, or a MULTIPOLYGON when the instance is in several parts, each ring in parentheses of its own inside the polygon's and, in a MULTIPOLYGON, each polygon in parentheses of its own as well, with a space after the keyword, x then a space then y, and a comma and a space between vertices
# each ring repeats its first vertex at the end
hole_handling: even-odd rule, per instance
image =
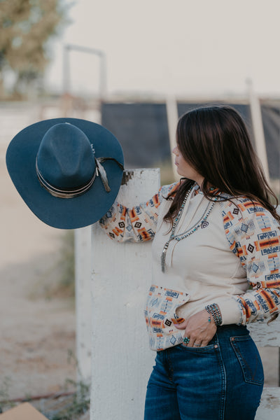
MULTIPOLYGON (((149 200, 160 186, 159 169, 127 171, 118 202, 149 200)), ((144 318, 151 285, 151 243, 119 244, 92 227, 91 420, 141 420, 155 353, 144 318)))

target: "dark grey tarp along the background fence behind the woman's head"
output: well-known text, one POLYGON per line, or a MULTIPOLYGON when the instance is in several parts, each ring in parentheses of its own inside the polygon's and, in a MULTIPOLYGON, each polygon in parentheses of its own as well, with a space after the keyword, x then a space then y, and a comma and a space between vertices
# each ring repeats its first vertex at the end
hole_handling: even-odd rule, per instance
MULTIPOLYGON (((217 102, 178 104, 179 116, 200 106, 217 102)), ((221 102, 219 103, 221 104, 221 102)), ((253 139, 250 106, 230 104, 241 113, 253 139)), ((280 104, 262 104, 262 123, 267 146, 269 174, 272 179, 280 178, 280 104)), ((167 110, 164 103, 104 103, 102 125, 116 135, 123 146, 125 167, 160 167, 170 162, 167 110)))

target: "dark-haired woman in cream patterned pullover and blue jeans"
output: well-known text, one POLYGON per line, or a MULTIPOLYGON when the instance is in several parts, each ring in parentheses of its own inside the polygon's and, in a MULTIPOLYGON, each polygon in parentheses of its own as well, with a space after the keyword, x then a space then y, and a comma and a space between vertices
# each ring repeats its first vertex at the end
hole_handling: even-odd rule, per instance
POLYGON ((263 370, 246 324, 279 312, 276 197, 234 109, 186 113, 176 140, 181 181, 100 221, 118 241, 153 239, 145 420, 254 419, 263 370))

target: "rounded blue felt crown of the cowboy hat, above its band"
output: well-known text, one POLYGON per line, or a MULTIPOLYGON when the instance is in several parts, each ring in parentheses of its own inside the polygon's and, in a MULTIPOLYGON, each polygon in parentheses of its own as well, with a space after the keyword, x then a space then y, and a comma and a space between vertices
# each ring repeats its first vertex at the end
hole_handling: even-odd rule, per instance
POLYGON ((38 148, 37 165, 50 185, 78 188, 92 179, 94 153, 82 130, 69 123, 59 123, 45 133, 38 148))

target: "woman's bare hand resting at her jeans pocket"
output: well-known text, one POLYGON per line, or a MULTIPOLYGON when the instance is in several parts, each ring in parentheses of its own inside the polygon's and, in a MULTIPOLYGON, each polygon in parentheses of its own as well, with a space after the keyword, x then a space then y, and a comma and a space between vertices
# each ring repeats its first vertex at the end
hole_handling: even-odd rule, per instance
POLYGON ((203 309, 197 314, 190 316, 188 320, 183 321, 180 324, 174 324, 179 330, 185 330, 184 337, 188 337, 190 341, 188 344, 184 344, 187 347, 204 347, 207 346, 209 341, 216 334, 216 324, 214 318, 210 316, 211 322, 209 322, 209 314, 203 309))

